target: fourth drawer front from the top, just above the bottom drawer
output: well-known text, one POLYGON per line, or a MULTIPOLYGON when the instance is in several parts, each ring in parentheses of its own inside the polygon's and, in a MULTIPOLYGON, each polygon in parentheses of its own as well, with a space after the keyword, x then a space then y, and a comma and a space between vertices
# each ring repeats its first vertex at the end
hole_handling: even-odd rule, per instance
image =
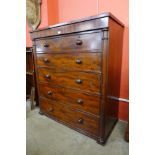
POLYGON ((40 96, 69 105, 74 109, 99 115, 100 96, 89 95, 62 87, 49 86, 45 83, 39 85, 39 90, 40 96))

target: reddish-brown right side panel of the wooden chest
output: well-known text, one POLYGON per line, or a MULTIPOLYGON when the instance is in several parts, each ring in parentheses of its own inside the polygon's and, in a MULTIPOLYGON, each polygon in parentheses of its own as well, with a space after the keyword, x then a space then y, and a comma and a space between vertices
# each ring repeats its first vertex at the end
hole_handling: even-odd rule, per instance
MULTIPOLYGON (((109 40, 105 40, 106 47, 106 85, 104 99, 104 116, 105 137, 108 137, 111 130, 118 120, 119 102, 110 99, 109 96, 119 97, 120 81, 121 81, 121 66, 122 66, 122 42, 123 42, 123 27, 115 21, 109 19, 109 31, 107 32, 109 40)), ((104 76, 104 75, 103 75, 104 76)), ((105 77, 105 76, 104 76, 105 77)), ((104 78, 105 79, 105 78, 104 78)))

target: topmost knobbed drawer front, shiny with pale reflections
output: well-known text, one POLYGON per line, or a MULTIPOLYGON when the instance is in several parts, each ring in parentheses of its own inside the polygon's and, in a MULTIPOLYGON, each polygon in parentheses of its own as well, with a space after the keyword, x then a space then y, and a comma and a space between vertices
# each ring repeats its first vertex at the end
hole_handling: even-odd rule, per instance
POLYGON ((73 50, 101 50, 102 33, 59 36, 36 41, 36 52, 64 52, 73 50))

